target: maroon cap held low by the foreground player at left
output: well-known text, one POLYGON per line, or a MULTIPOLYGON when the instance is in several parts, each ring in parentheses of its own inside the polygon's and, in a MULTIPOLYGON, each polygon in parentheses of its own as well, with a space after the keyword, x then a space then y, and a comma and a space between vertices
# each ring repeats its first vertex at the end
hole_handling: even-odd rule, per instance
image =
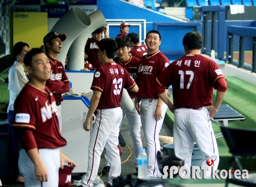
POLYGON ((64 165, 64 168, 59 168, 59 187, 69 187, 71 183, 71 172, 75 166, 64 165))

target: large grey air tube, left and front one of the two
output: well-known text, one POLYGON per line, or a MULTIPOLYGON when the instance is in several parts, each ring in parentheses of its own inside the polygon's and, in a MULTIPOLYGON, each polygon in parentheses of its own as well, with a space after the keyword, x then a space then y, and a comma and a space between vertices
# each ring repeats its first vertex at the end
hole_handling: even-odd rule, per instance
POLYGON ((62 43, 61 52, 57 60, 65 63, 70 45, 88 26, 91 25, 91 19, 82 9, 74 6, 65 15, 63 15, 53 26, 52 31, 67 35, 67 39, 62 43))

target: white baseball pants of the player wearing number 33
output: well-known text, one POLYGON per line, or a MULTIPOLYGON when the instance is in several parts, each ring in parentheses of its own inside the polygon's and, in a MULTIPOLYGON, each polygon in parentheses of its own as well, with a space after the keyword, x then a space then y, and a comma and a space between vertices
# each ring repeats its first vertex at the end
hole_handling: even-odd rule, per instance
POLYGON ((82 177, 81 181, 83 187, 93 186, 92 182, 95 181, 97 177, 101 153, 104 147, 107 152, 107 160, 111 167, 108 174, 108 183, 112 185, 113 178, 121 174, 121 159, 117 145, 119 126, 122 121, 122 109, 121 107, 99 109, 97 113, 88 148, 87 172, 82 177))

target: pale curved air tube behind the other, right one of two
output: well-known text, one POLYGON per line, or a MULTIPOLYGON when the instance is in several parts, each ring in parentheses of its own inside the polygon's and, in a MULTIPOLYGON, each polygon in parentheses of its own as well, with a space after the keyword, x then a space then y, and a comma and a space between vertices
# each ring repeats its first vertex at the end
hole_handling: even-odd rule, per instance
POLYGON ((84 69, 86 41, 94 30, 106 25, 106 19, 101 13, 101 10, 91 13, 89 17, 91 19, 91 25, 74 40, 69 48, 68 70, 84 69))

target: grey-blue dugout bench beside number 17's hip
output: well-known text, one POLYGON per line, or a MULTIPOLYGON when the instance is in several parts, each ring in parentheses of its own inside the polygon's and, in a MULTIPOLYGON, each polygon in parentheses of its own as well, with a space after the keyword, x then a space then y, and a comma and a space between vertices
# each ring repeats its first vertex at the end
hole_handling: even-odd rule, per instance
MULTIPOLYGON (((228 126, 229 122, 236 120, 244 121, 245 116, 241 115, 227 104, 221 104, 219 106, 218 112, 215 114, 213 118, 211 118, 211 121, 219 126, 228 126)), ((217 139, 224 136, 222 133, 219 133, 216 134, 215 137, 217 139)))

